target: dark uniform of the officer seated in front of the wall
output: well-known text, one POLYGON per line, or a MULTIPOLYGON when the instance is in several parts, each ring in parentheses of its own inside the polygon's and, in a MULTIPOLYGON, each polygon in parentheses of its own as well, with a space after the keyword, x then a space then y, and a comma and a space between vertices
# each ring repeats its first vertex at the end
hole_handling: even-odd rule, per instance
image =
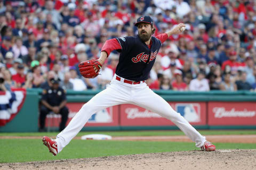
MULTIPOLYGON (((46 88, 43 90, 42 100, 45 100, 51 106, 59 106, 62 101, 66 100, 66 92, 60 87, 58 89, 46 88)), ((39 121, 41 129, 44 129, 45 117, 50 112, 51 110, 42 104, 39 121)), ((68 120, 68 108, 66 106, 62 107, 59 114, 61 114, 60 131, 62 131, 68 120)))

